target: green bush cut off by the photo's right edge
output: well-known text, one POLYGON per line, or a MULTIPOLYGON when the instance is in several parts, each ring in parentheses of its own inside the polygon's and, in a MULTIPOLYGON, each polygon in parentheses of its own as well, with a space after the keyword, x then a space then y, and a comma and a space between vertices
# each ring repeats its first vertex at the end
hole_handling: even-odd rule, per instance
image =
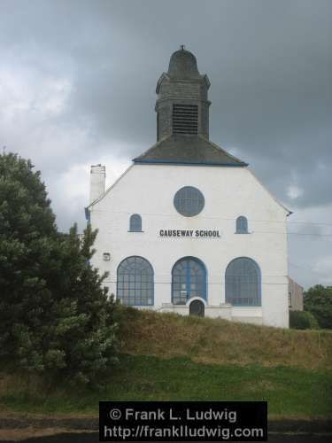
POLYGON ((332 329, 332 286, 316 284, 304 295, 305 311, 314 315, 320 328, 332 329))

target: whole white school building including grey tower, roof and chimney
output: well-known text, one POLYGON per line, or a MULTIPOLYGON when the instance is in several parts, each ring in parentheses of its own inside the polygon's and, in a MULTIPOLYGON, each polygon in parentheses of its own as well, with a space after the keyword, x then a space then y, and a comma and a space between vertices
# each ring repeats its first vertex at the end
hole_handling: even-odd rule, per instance
POLYGON ((209 141, 209 86, 181 47, 158 81, 157 143, 108 190, 91 167, 93 265, 127 305, 287 328, 290 211, 209 141))

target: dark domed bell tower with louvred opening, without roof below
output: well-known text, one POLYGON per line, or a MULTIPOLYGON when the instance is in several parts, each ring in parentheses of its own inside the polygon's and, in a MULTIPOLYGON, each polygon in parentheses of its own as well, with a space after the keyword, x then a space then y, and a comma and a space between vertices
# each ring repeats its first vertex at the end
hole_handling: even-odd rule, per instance
POLYGON ((198 72, 195 56, 181 45, 158 80, 157 141, 166 136, 209 138, 209 87, 207 75, 198 72))

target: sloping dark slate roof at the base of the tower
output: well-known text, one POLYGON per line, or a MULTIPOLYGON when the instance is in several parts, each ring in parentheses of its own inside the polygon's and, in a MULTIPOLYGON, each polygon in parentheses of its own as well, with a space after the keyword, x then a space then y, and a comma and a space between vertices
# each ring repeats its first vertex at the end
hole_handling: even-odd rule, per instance
POLYGON ((135 163, 246 167, 248 163, 213 144, 204 136, 167 136, 133 159, 135 163))

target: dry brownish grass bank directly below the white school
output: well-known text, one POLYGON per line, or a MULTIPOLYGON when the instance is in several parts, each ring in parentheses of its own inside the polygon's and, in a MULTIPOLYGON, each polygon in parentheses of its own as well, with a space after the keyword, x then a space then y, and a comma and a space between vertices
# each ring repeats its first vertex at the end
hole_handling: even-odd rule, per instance
POLYGON ((208 364, 332 369, 332 333, 126 309, 122 350, 208 364))

